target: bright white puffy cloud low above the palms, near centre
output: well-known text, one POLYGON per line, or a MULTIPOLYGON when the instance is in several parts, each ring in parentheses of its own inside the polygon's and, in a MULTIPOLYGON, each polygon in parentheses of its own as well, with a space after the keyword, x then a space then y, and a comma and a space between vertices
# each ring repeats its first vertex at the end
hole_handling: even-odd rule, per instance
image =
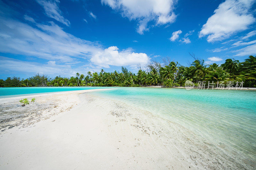
POLYGON ((109 65, 131 66, 138 63, 146 64, 149 61, 149 57, 145 53, 134 53, 132 49, 120 51, 116 46, 110 46, 94 54, 91 61, 95 65, 108 68, 109 65))

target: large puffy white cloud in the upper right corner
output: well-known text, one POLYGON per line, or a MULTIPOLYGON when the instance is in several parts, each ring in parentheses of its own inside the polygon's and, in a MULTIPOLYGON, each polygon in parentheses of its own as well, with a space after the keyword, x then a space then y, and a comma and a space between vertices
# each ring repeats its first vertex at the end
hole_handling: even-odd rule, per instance
POLYGON ((250 8, 254 0, 226 0, 208 18, 199 38, 208 36, 208 42, 226 39, 230 35, 248 29, 255 22, 250 8))

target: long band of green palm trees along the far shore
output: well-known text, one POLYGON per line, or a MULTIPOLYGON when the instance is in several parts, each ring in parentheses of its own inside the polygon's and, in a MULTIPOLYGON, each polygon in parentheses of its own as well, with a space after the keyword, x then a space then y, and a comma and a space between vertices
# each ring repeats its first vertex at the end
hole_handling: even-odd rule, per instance
MULTIPOLYGON (((190 54, 191 55, 191 54, 190 54)), ((57 76, 54 79, 45 75, 35 75, 28 79, 18 77, 0 80, 1 87, 32 87, 32 86, 148 86, 164 85, 167 87, 184 86, 186 80, 197 84, 199 81, 244 81, 244 87, 256 87, 256 57, 249 56, 244 62, 227 59, 221 65, 205 65, 204 60, 191 55, 194 62, 189 67, 180 65, 178 62, 164 58, 164 64, 151 61, 141 68, 138 65, 138 73, 132 73, 122 67, 122 72, 107 73, 102 69, 100 73, 87 74, 76 73, 70 78, 57 76)))

